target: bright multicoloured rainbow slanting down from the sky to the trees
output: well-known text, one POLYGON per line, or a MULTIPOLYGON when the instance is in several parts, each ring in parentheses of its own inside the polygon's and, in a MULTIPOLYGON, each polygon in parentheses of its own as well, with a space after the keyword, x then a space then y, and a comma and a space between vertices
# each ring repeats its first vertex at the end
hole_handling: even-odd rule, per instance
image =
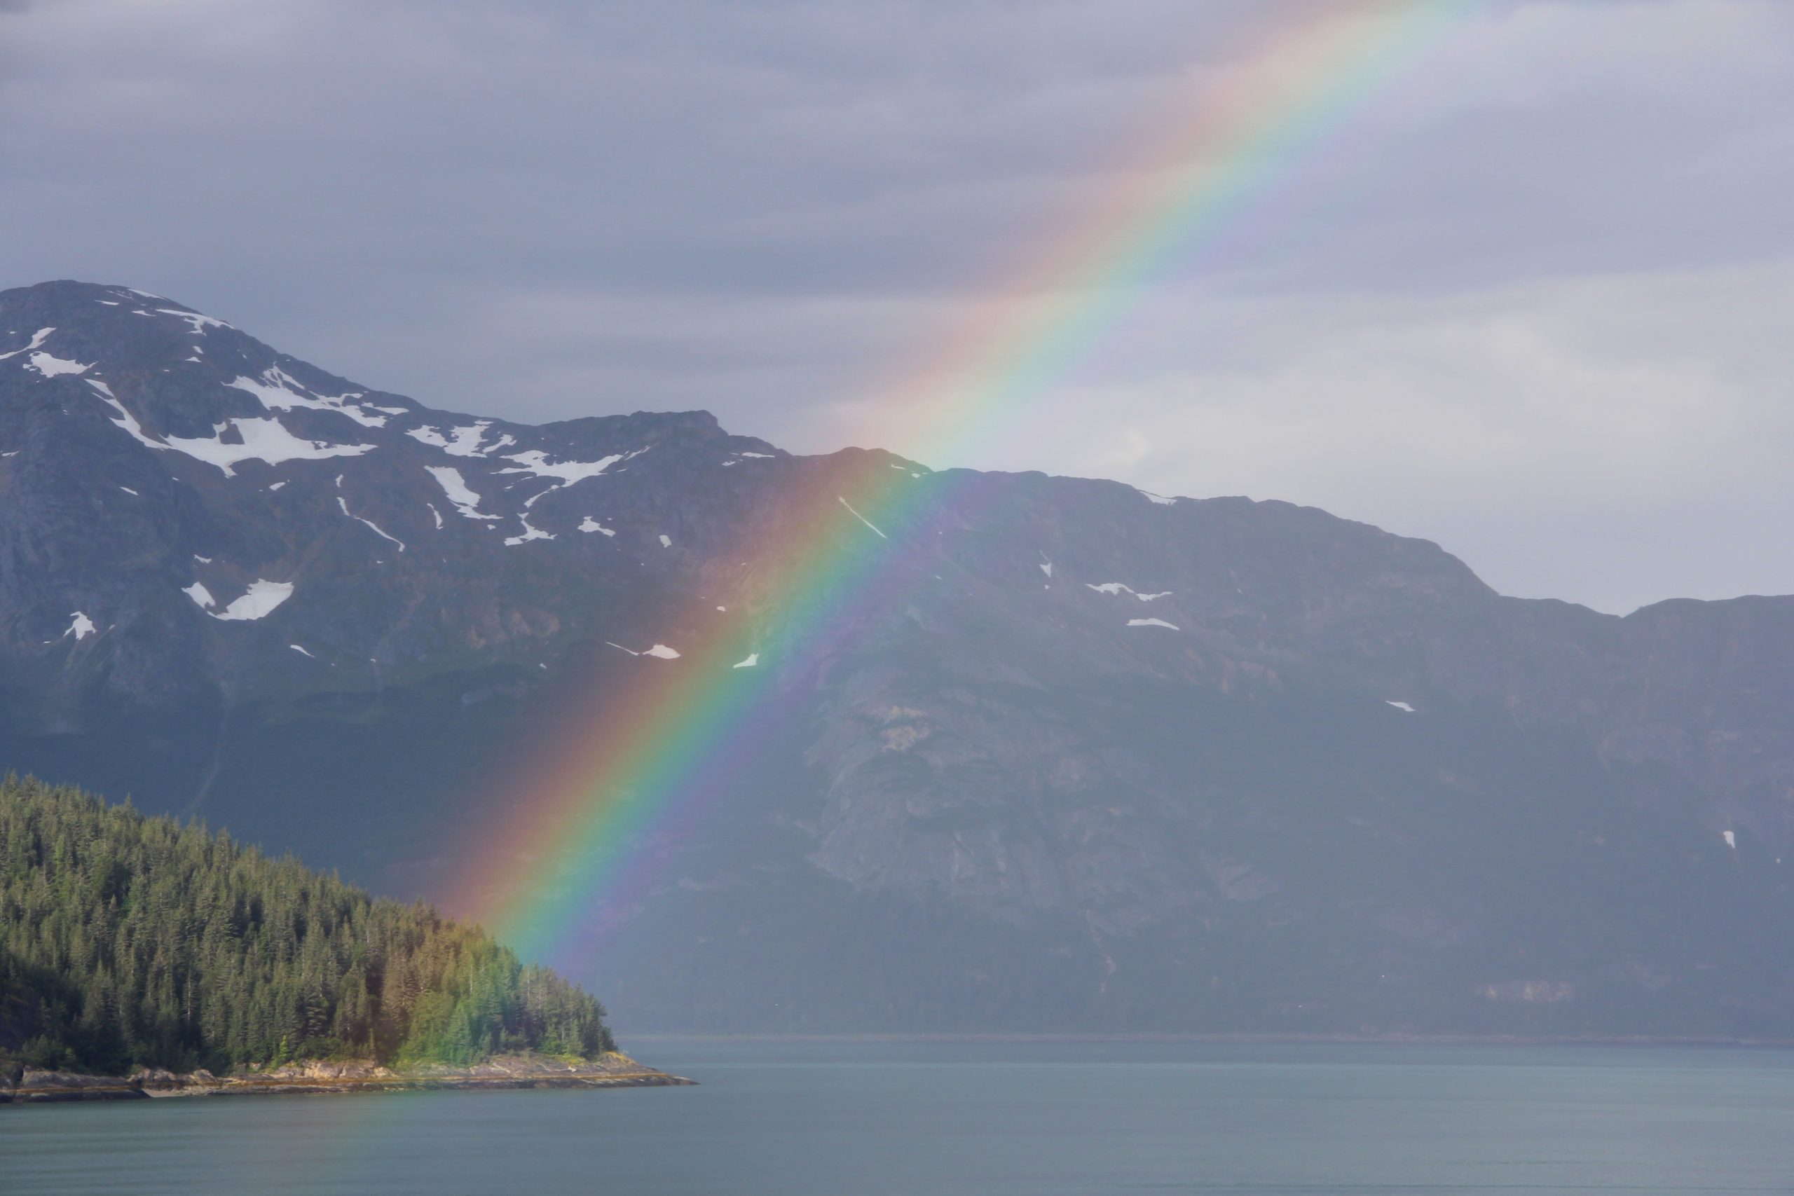
MULTIPOLYGON (((1093 212, 1048 238, 996 289, 990 319, 969 326, 913 375, 872 394, 868 427, 901 416, 908 445, 958 459, 987 443, 1137 307, 1155 280, 1215 246, 1324 156, 1372 100, 1435 52, 1482 0, 1365 0, 1286 23, 1225 77, 1204 77, 1093 212), (917 432, 917 429, 922 429, 917 432)), ((845 628, 926 543, 963 475, 890 468, 877 454, 795 470, 804 515, 777 543, 757 542, 755 610, 694 606, 707 628, 678 660, 642 662, 626 701, 570 719, 535 775, 497 802, 463 879, 465 913, 526 958, 578 968, 608 904, 653 870, 644 832, 700 818, 730 776, 784 724, 807 676, 845 628)), ((748 552, 743 552, 748 558, 748 552)), ((615 687, 614 687, 615 689, 615 687)), ((664 836, 662 836, 664 837, 664 836)), ((454 902, 450 902, 454 904, 454 902)))

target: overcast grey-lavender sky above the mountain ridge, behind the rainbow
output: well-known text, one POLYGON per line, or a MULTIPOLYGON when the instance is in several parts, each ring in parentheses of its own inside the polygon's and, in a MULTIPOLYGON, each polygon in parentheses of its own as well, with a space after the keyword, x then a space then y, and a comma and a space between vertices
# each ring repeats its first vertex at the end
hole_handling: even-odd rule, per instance
POLYGON ((904 420, 1143 147, 1365 7, 0 0, 0 287, 457 411, 1315 504, 1598 610, 1794 592, 1789 0, 1408 5, 1451 14, 1087 351, 904 420))

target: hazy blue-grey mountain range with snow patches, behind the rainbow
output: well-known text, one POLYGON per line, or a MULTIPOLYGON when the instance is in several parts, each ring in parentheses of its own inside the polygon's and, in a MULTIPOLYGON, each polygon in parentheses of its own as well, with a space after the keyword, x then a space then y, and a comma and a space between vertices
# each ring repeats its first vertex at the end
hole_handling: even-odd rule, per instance
POLYGON ((570 712, 773 620, 902 470, 931 534, 596 911, 626 1031, 1794 1036, 1794 599, 1620 619, 1283 502, 443 412, 70 282, 0 292, 0 766, 450 909, 570 712))

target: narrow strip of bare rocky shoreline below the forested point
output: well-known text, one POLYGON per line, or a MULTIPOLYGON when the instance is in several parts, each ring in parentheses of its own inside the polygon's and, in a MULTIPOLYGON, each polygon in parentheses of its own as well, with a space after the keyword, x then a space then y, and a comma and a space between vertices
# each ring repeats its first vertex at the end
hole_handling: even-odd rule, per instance
POLYGON ((183 1096, 274 1096, 325 1092, 423 1092, 495 1088, 653 1088, 694 1079, 642 1067, 626 1054, 569 1063, 533 1054, 501 1054, 456 1067, 422 1063, 395 1070, 373 1060, 285 1063, 267 1070, 213 1076, 208 1070, 138 1069, 129 1076, 86 1076, 34 1067, 0 1072, 0 1105, 59 1101, 142 1101, 183 1096))

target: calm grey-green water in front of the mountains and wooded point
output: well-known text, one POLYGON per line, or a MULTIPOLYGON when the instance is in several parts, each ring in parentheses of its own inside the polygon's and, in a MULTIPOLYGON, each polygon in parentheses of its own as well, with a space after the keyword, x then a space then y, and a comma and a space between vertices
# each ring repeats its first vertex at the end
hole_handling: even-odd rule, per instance
POLYGON ((0 1108, 11 1192, 1794 1192, 1794 1053, 631 1044, 701 1088, 0 1108))

